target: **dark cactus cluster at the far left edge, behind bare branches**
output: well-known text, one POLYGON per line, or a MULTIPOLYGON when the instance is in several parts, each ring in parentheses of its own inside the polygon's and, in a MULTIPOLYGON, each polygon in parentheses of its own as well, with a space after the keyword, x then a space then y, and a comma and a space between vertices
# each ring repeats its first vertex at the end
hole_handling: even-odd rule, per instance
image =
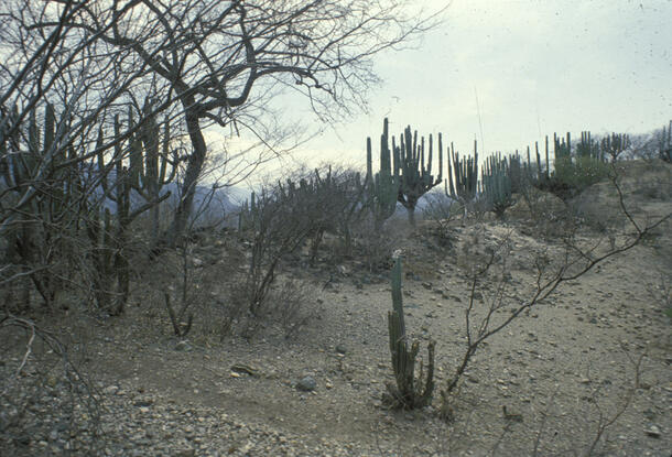
MULTIPOLYGON (((7 129, 18 118, 14 107, 2 123, 7 129)), ((8 251, 13 258, 10 263, 21 263, 26 269, 41 266, 30 279, 47 306, 63 287, 54 269, 67 263, 64 244, 77 226, 76 206, 80 200, 79 174, 73 171, 75 161, 71 164, 67 161, 74 159, 74 150, 62 146, 57 140, 57 130, 67 121, 46 104, 42 128, 37 109, 32 109, 23 131, 15 129, 12 135, 3 134, 0 144, 1 177, 6 189, 13 194, 13 197, 6 194, 6 198, 15 198, 10 205, 17 205, 8 213, 7 229, 1 235, 10 246, 21 247, 8 251), (31 194, 34 198, 29 197, 31 194)))

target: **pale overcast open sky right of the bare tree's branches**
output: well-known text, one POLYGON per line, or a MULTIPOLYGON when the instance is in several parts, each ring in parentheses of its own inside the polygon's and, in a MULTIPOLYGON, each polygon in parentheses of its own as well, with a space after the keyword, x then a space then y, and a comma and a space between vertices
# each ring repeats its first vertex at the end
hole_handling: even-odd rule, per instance
POLYGON ((464 152, 475 138, 508 152, 554 131, 639 133, 672 119, 670 0, 425 3, 449 3, 444 22, 380 55, 369 112, 313 138, 297 162, 362 165, 386 116, 392 133, 443 132, 464 152))

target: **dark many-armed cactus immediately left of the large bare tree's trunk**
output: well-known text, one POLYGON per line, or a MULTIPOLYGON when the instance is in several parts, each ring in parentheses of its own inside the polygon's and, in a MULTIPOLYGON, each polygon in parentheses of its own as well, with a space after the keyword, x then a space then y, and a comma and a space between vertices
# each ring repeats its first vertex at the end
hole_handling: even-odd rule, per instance
MULTIPOLYGON (((170 148, 167 120, 161 139, 155 117, 149 115, 148 107, 144 111, 142 123, 136 124, 132 109, 129 109, 128 140, 116 141, 111 155, 105 148, 102 128, 98 131, 96 142, 97 178, 104 198, 116 204, 116 211, 112 218, 108 208, 101 206, 100 202, 91 202, 87 233, 93 244, 91 258, 97 265, 94 283, 98 306, 115 315, 123 312, 129 295, 130 271, 126 252, 128 229, 138 216, 151 210, 153 241, 156 240, 160 231, 159 204, 171 195, 170 192, 162 194, 161 189, 170 184, 176 174, 176 157, 170 148), (126 150, 124 143, 128 143, 126 150), (124 165, 127 156, 129 166, 124 165), (111 173, 112 170, 115 173, 111 173), (133 192, 144 199, 144 204, 133 207, 133 192), (108 258, 111 253, 113 259, 108 258)), ((115 139, 122 138, 121 128, 117 115, 113 119, 115 139)))

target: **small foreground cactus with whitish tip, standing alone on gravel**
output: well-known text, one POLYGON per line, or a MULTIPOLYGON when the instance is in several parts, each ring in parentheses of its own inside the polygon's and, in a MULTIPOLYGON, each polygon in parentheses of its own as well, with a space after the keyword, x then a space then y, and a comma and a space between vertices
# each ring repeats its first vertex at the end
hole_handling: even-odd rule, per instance
POLYGON ((420 342, 413 341, 409 347, 409 339, 403 317, 403 303, 401 295, 401 259, 394 261, 391 276, 392 311, 388 313, 388 329, 390 336, 390 353, 394 371, 395 385, 388 383, 388 392, 383 401, 392 407, 413 410, 423 407, 432 401, 434 392, 434 347, 430 341, 427 347, 427 372, 423 373, 422 360, 420 371, 415 377, 415 359, 420 350, 420 342))

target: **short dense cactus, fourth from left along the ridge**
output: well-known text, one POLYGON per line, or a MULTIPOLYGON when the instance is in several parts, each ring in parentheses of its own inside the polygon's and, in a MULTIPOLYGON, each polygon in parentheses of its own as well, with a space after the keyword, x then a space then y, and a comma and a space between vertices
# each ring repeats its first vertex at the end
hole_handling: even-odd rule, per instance
POLYGON ((512 197, 511 163, 520 164, 514 156, 507 160, 501 154, 494 154, 486 160, 483 171, 483 193, 490 210, 500 219, 507 208, 516 203, 512 197))

